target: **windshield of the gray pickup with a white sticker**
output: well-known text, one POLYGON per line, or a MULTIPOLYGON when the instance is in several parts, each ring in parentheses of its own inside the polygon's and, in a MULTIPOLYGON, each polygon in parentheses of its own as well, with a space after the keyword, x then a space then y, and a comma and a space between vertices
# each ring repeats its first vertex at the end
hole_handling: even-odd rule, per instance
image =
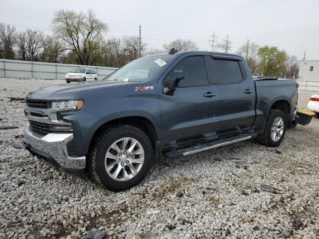
POLYGON ((129 82, 148 81, 174 57, 174 55, 163 55, 140 58, 118 69, 105 78, 105 80, 129 82))

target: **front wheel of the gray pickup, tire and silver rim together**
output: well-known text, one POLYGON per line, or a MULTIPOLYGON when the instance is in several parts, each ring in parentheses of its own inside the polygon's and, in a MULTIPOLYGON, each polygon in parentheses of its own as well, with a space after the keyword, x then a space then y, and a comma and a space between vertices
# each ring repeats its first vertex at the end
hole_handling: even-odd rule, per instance
POLYGON ((89 173, 107 189, 122 191, 141 182, 152 161, 152 143, 145 132, 121 124, 102 131, 93 141, 89 173))

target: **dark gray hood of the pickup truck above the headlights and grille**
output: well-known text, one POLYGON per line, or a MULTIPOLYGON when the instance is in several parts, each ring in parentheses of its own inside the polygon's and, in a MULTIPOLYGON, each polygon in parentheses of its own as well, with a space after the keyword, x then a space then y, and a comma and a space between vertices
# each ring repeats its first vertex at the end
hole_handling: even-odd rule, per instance
POLYGON ((25 99, 31 101, 74 100, 76 95, 83 91, 136 83, 126 81, 92 81, 55 85, 31 91, 25 96, 25 99))

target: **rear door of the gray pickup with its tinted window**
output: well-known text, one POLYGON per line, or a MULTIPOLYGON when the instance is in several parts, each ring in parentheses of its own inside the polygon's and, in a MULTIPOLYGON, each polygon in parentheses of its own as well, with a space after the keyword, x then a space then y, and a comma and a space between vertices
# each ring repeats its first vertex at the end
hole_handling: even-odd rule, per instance
POLYGON ((250 128, 255 120, 256 92, 250 74, 239 57, 205 56, 209 82, 216 86, 215 117, 220 133, 250 128))

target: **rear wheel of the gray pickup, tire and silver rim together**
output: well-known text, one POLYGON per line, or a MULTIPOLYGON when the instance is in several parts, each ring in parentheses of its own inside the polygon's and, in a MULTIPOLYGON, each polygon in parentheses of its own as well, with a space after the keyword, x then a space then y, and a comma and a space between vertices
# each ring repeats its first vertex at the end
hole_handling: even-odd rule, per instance
POLYGON ((286 133, 287 117, 280 110, 270 110, 266 119, 265 131, 259 134, 257 141, 260 144, 277 147, 283 141, 286 133))

